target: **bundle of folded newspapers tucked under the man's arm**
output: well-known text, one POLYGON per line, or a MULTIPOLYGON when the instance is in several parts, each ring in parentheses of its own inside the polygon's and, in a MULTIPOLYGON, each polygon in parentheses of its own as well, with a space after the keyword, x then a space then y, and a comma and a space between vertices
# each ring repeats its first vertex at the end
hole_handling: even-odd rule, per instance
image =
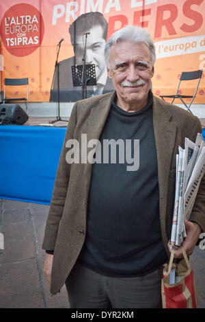
POLYGON ((176 154, 176 191, 171 248, 181 246, 186 237, 184 218, 189 220, 200 182, 205 173, 205 142, 197 133, 195 143, 185 138, 184 149, 176 154))

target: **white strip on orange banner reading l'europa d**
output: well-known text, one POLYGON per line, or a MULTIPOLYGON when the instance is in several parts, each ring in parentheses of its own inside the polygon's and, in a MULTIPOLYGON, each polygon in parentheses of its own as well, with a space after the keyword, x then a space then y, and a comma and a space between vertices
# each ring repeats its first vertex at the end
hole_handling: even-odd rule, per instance
POLYGON ((205 50, 205 35, 159 41, 154 45, 157 59, 193 54, 205 50))

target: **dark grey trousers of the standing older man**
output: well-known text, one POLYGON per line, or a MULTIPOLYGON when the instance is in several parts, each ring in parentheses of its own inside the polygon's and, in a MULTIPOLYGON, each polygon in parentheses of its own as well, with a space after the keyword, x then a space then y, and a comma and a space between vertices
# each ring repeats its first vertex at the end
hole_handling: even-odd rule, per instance
POLYGON ((75 264, 66 279, 70 308, 161 308, 162 268, 143 277, 107 277, 75 264))

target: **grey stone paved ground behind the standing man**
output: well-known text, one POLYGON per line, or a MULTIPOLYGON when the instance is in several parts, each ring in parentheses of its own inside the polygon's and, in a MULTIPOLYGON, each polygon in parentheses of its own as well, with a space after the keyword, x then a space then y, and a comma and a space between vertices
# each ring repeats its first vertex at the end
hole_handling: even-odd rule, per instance
MULTIPOLYGON (((0 308, 69 308, 65 287, 51 296, 41 249, 49 206, 0 199, 0 308)), ((198 307, 205 308, 205 250, 191 256, 198 307)))

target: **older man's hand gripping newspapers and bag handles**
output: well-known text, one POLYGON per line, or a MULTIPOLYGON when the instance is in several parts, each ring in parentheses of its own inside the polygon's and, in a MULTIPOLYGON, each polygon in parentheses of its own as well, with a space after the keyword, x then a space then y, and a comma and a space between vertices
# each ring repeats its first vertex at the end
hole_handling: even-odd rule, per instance
MULTIPOLYGON (((187 219, 184 219, 184 225, 187 233, 187 237, 184 238, 184 241, 182 242, 182 246, 184 246, 184 250, 187 253, 187 256, 190 256, 193 253, 195 244, 197 243, 197 240, 200 237, 200 233, 202 232, 201 227, 196 223, 196 222, 191 222, 187 219)), ((169 246, 169 251, 170 249, 170 244, 169 246)), ((182 254, 182 247, 179 247, 175 253, 174 253, 175 258, 183 258, 182 254)))

